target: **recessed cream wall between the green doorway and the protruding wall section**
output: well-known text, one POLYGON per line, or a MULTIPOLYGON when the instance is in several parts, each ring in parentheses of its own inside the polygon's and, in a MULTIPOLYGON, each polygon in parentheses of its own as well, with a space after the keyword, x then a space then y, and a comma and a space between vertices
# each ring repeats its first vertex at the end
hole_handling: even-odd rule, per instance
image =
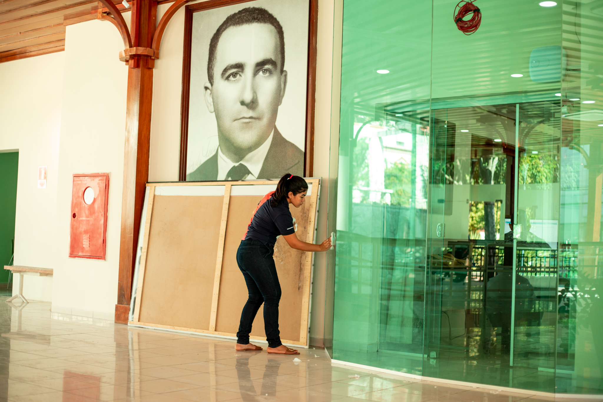
MULTIPOLYGON (((0 64, 0 151, 19 151, 14 265, 55 268, 64 58, 58 52, 0 64), (48 166, 46 189, 37 188, 38 166, 48 166)), ((52 277, 27 276, 23 292, 51 301, 52 277)))

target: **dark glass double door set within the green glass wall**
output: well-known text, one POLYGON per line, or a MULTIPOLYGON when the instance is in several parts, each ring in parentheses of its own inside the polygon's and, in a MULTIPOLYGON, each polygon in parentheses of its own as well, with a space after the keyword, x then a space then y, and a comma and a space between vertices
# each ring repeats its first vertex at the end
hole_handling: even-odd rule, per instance
POLYGON ((554 391, 559 112, 432 110, 423 375, 554 391))

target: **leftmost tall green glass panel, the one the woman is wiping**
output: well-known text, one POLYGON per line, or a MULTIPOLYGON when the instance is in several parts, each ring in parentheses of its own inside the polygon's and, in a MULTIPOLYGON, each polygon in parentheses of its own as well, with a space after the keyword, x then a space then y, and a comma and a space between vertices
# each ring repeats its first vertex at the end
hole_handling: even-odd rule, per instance
POLYGON ((429 102, 431 4, 367 5, 344 2, 333 358, 420 374, 429 106, 383 105, 429 102))

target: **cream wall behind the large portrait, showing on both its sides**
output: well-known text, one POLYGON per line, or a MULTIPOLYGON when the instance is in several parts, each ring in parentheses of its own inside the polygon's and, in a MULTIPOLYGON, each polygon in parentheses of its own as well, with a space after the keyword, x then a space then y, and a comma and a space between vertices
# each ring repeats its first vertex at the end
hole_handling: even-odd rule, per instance
MULTIPOLYGON (((160 19, 169 5, 159 5, 157 19, 160 19)), ((172 17, 163 34, 160 58, 155 63, 149 181, 178 180, 184 22, 185 9, 181 8, 172 17)), ((317 52, 314 176, 326 178, 329 176, 331 129, 333 0, 318 2, 317 52)), ((327 191, 323 186, 317 241, 327 237, 326 216, 327 191)), ((318 345, 322 345, 324 331, 324 267, 324 254, 315 254, 310 337, 318 345)))

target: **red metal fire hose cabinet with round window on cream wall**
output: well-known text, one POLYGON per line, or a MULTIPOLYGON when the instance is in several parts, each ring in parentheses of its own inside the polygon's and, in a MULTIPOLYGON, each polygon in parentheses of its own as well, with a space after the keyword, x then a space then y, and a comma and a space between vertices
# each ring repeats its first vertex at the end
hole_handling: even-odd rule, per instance
POLYGON ((104 260, 109 174, 74 174, 69 257, 104 260))

